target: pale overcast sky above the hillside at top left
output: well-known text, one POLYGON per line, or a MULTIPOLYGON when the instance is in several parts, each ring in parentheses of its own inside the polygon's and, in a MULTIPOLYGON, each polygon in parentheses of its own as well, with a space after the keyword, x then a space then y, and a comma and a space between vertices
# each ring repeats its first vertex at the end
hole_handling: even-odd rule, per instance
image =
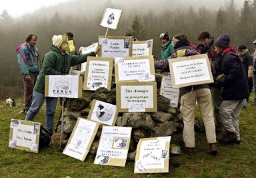
POLYGON ((4 0, 0 4, 0 13, 7 10, 12 17, 19 17, 24 13, 31 13, 40 7, 48 7, 70 0, 4 0))

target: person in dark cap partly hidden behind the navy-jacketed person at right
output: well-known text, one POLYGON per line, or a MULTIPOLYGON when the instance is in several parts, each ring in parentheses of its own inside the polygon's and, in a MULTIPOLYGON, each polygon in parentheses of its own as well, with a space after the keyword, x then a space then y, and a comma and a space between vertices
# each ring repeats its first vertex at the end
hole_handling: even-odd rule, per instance
MULTIPOLYGON (((239 45, 237 48, 237 55, 240 57, 243 67, 245 69, 247 82, 249 85, 249 94, 251 93, 251 90, 253 89, 253 56, 248 51, 247 47, 245 45, 239 45)), ((243 99, 243 108, 247 107, 247 102, 249 101, 249 97, 247 99, 243 99)))

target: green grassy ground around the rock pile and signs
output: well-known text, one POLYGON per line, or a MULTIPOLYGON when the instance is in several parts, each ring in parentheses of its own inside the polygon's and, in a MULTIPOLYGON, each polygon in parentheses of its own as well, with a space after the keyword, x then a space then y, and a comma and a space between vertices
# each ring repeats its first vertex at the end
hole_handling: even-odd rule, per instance
MULTIPOLYGON (((125 167, 94 165, 91 155, 84 162, 61 154, 57 149, 45 147, 39 154, 7 147, 10 119, 25 119, 22 106, 0 107, 0 177, 256 177, 256 106, 241 113, 241 145, 220 145, 216 157, 209 155, 204 133, 197 133, 197 151, 194 156, 181 153, 171 157, 169 173, 135 175, 133 162, 125 167)), ((4 105, 3 102, 0 105, 4 105)), ((55 122, 61 109, 58 107, 55 122)), ((45 124, 45 107, 35 121, 45 124)))

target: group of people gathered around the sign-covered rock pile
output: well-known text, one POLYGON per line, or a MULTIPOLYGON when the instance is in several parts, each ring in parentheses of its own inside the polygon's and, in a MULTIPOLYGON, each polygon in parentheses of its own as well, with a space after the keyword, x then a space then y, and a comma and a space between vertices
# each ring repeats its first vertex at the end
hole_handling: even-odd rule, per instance
MULTIPOLYGON (((29 34, 26 42, 16 48, 17 60, 24 81, 25 107, 23 111, 27 114, 25 120, 33 121, 45 99, 46 129, 51 133, 57 98, 45 97, 45 75, 66 75, 71 66, 87 61, 88 56, 95 56, 99 51, 97 47, 95 52, 85 55, 70 53, 69 41, 72 39, 72 33, 54 35, 50 50, 43 57, 42 67, 39 65, 39 53, 36 47, 37 35, 29 34)), ((133 37, 133 41, 136 40, 133 37)), ((219 35, 214 41, 208 31, 201 31, 198 34, 198 46, 192 45, 183 33, 175 35, 172 39, 168 33, 161 33, 160 40, 163 49, 161 60, 155 61, 155 69, 169 72, 168 59, 203 53, 207 53, 211 63, 214 83, 179 89, 186 153, 195 154, 194 123, 197 104, 201 111, 212 155, 218 153, 216 133, 219 133, 222 128, 225 134, 219 138, 219 141, 240 143, 239 115, 242 106, 247 107, 249 93, 256 85, 256 51, 253 53, 253 58, 245 45, 239 45, 236 49, 231 47, 230 37, 226 33, 219 35)), ((256 48, 256 40, 253 41, 253 45, 256 48)), ((256 87, 254 91, 256 92, 256 87)), ((254 104, 256 105, 256 95, 254 104)))

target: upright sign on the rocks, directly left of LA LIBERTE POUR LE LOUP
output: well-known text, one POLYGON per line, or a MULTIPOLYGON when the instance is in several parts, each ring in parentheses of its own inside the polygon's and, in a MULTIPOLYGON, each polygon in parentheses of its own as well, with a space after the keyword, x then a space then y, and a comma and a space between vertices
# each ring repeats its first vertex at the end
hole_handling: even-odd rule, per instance
POLYGON ((88 57, 85 69, 84 90, 95 91, 99 87, 111 89, 113 60, 106 57, 88 57))

